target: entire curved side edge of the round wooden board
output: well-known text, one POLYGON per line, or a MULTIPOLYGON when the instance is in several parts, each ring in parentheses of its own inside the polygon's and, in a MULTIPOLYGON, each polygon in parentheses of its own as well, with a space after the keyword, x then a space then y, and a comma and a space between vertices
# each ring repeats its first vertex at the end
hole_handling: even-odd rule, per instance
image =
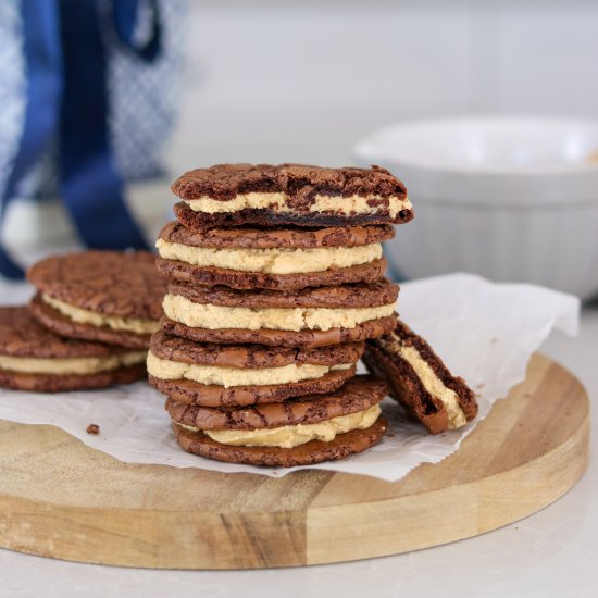
POLYGON ((528 516, 571 489, 588 458, 586 415, 565 443, 515 470, 422 495, 311 509, 299 518, 281 512, 275 521, 258 512, 237 518, 197 512, 184 521, 182 513, 167 511, 67 508, 62 512, 60 507, 23 503, 21 498, 11 502, 11 497, 0 496, 0 543, 42 557, 151 569, 236 570, 354 561, 464 539, 528 516), (537 491, 538 479, 547 481, 549 491, 537 491), (27 521, 21 516, 24 513, 27 521), (33 520, 32 513, 37 513, 33 520), (47 533, 57 519, 71 527, 64 534, 47 533), (389 541, 390 527, 397 535, 389 541), (229 534, 237 538, 235 548, 226 541, 229 534), (238 543, 239 537, 247 541, 238 543), (273 537, 279 541, 272 543, 273 537), (117 557, 110 549, 115 541, 117 557), (176 550, 173 543, 178 544, 176 550), (178 557, 173 558, 175 553, 178 557), (184 560, 180 553, 186 555, 184 560))

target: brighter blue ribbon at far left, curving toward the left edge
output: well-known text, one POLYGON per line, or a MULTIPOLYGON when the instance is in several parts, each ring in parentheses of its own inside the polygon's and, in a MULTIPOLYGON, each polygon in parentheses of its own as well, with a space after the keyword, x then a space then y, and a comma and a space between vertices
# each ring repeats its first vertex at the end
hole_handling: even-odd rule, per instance
MULTIPOLYGON (((0 198, 0 223, 18 183, 39 160, 57 130, 62 94, 57 0, 22 0, 22 11, 27 100, 20 148, 0 198)), ((0 272, 10 278, 23 277, 23 270, 1 244, 0 272)))

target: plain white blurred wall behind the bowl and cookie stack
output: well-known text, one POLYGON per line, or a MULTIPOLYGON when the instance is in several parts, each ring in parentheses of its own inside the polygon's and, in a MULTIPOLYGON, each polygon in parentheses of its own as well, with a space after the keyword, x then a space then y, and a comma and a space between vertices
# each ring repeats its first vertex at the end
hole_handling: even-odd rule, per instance
POLYGON ((387 123, 484 112, 598 116, 591 0, 189 0, 173 173, 351 162, 387 123))

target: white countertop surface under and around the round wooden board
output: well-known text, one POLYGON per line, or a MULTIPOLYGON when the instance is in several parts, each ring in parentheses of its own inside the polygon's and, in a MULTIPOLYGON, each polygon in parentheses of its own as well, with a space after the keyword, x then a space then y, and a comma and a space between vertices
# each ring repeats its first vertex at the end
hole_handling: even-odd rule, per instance
MULTIPOLYGON (((8 287, 0 283, 0 298, 8 287)), ((11 296, 28 290, 11 288, 11 296)), ((555 334, 543 351, 571 370, 598 400, 598 304, 581 334, 555 334)), ((598 422, 593 421, 593 446, 598 422)), ((68 563, 0 550, 0 597, 144 598, 282 595, 598 596, 598 465, 563 498, 523 521, 476 538, 408 555, 347 564, 260 571, 150 571, 68 563)))

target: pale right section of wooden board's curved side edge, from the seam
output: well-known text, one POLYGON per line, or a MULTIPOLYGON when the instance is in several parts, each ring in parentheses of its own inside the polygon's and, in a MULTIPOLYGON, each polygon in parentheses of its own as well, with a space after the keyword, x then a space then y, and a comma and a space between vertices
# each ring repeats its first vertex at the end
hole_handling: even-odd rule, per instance
POLYGON ((311 509, 307 562, 325 564, 410 552, 477 536, 530 516, 564 496, 587 470, 589 423, 588 412, 563 444, 490 477, 367 504, 311 509), (541 494, 534 486, 538 479, 546 482, 541 494), (426 513, 423 520, 418 518, 422 512, 426 513), (366 530, 359 522, 369 513, 379 524, 366 530), (397 536, 385 541, 390 527, 397 530, 397 536))

